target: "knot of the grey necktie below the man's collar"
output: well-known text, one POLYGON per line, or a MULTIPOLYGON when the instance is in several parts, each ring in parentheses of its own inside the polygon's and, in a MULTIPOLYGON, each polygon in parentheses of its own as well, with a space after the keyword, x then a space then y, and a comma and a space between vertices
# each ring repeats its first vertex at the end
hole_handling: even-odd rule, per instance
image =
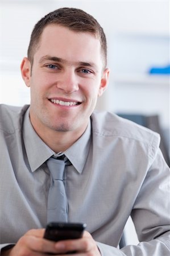
POLYGON ((58 160, 55 158, 49 158, 47 160, 47 166, 51 172, 53 180, 63 180, 65 162, 64 160, 58 160))

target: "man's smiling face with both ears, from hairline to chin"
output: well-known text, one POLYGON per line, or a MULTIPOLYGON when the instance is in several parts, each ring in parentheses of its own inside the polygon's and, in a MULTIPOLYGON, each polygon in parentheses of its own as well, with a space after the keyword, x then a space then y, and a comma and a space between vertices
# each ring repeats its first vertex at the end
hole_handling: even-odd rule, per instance
POLYGON ((47 26, 32 67, 27 58, 21 67, 31 89, 35 130, 83 133, 109 75, 108 69, 103 71, 99 40, 89 33, 47 26))

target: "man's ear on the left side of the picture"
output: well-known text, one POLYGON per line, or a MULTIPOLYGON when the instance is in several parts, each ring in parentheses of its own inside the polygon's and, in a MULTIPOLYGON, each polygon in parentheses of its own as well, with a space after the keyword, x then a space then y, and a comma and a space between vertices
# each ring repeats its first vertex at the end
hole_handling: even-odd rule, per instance
POLYGON ((27 85, 27 87, 30 87, 31 63, 27 57, 24 57, 22 63, 20 64, 20 71, 25 84, 27 85))

